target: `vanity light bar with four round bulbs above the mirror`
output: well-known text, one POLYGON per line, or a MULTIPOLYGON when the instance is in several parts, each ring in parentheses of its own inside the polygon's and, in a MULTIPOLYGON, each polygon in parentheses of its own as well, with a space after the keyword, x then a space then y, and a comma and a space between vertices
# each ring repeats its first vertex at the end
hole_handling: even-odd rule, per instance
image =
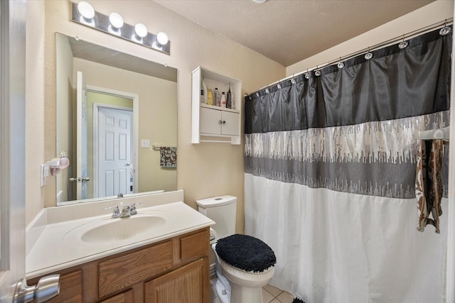
POLYGON ((143 23, 137 23, 135 26, 124 23, 122 16, 116 12, 110 13, 109 16, 98 13, 86 1, 81 1, 79 4, 73 2, 72 8, 71 20, 76 23, 90 26, 98 31, 129 40, 152 50, 158 50, 167 55, 171 53, 171 43, 166 33, 160 32, 155 35, 149 33, 143 23))

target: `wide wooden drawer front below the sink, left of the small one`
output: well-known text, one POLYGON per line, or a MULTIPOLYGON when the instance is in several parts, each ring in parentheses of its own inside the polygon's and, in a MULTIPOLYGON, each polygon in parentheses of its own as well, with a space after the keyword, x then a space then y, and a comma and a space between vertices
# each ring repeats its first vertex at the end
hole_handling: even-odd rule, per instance
POLYGON ((98 295, 122 290, 172 268, 172 241, 98 264, 98 295))

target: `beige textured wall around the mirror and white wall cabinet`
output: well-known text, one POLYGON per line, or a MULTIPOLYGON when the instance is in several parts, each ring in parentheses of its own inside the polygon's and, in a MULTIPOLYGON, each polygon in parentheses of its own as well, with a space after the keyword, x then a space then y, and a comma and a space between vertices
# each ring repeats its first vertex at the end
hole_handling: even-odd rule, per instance
MULTIPOLYGON (((237 231, 243 231, 243 146, 223 143, 191 144, 191 71, 200 65, 242 79, 242 92, 247 93, 284 77, 284 67, 228 38, 181 18, 153 1, 90 0, 90 4, 100 13, 109 14, 112 11, 122 13, 126 23, 144 23, 151 33, 166 32, 171 41, 171 55, 71 22, 69 1, 29 2, 40 3, 36 5, 42 5, 44 2, 45 5, 45 97, 38 97, 36 106, 45 108, 46 118, 44 123, 39 122, 44 125, 44 131, 39 131, 35 135, 41 144, 44 141, 45 152, 41 151, 28 165, 37 176, 29 178, 28 190, 38 193, 43 190, 45 198, 38 199, 36 197, 40 196, 34 195, 33 198, 27 199, 26 221, 30 222, 44 205, 50 206, 48 201, 55 199, 53 198, 55 183, 48 178, 48 184, 41 189, 38 170, 41 162, 55 157, 55 32, 59 32, 73 37, 77 35, 82 40, 178 69, 177 187, 185 190, 185 202, 193 207, 196 207, 196 199, 205 197, 219 194, 239 197, 237 231)), ((40 18, 43 22, 44 18, 42 16, 40 18)), ((27 139, 28 136, 29 134, 27 139)), ((35 153, 36 150, 29 144, 26 149, 27 154, 35 153)))

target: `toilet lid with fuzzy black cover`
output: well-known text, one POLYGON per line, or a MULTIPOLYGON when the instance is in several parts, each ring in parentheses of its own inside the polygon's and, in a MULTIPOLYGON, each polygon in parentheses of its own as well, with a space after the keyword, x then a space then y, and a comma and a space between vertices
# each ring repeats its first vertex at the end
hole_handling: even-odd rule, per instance
POLYGON ((272 248, 266 243, 238 233, 218 240, 215 250, 225 263, 240 270, 263 272, 277 263, 272 248))

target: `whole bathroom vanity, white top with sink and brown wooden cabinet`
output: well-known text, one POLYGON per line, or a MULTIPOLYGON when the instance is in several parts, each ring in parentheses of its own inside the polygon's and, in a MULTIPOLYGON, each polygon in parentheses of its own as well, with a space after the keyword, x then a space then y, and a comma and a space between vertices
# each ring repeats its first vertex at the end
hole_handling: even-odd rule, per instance
MULTIPOLYGON (((124 219, 107 214, 57 222, 51 213, 62 207, 45 210, 47 224, 39 224, 43 219, 38 219, 33 222, 35 229, 28 229, 31 235, 38 226, 42 230, 38 237, 30 236, 35 242, 27 255, 28 285, 44 275, 60 274, 60 294, 48 302, 210 301, 209 226, 213 221, 198 211, 183 202, 169 202, 138 208, 137 215, 124 219), (149 220, 154 222, 150 229, 149 220), (124 222, 131 225, 121 226, 127 233, 109 236, 119 235, 116 228, 124 222)), ((109 206, 101 209, 105 207, 109 206)))

